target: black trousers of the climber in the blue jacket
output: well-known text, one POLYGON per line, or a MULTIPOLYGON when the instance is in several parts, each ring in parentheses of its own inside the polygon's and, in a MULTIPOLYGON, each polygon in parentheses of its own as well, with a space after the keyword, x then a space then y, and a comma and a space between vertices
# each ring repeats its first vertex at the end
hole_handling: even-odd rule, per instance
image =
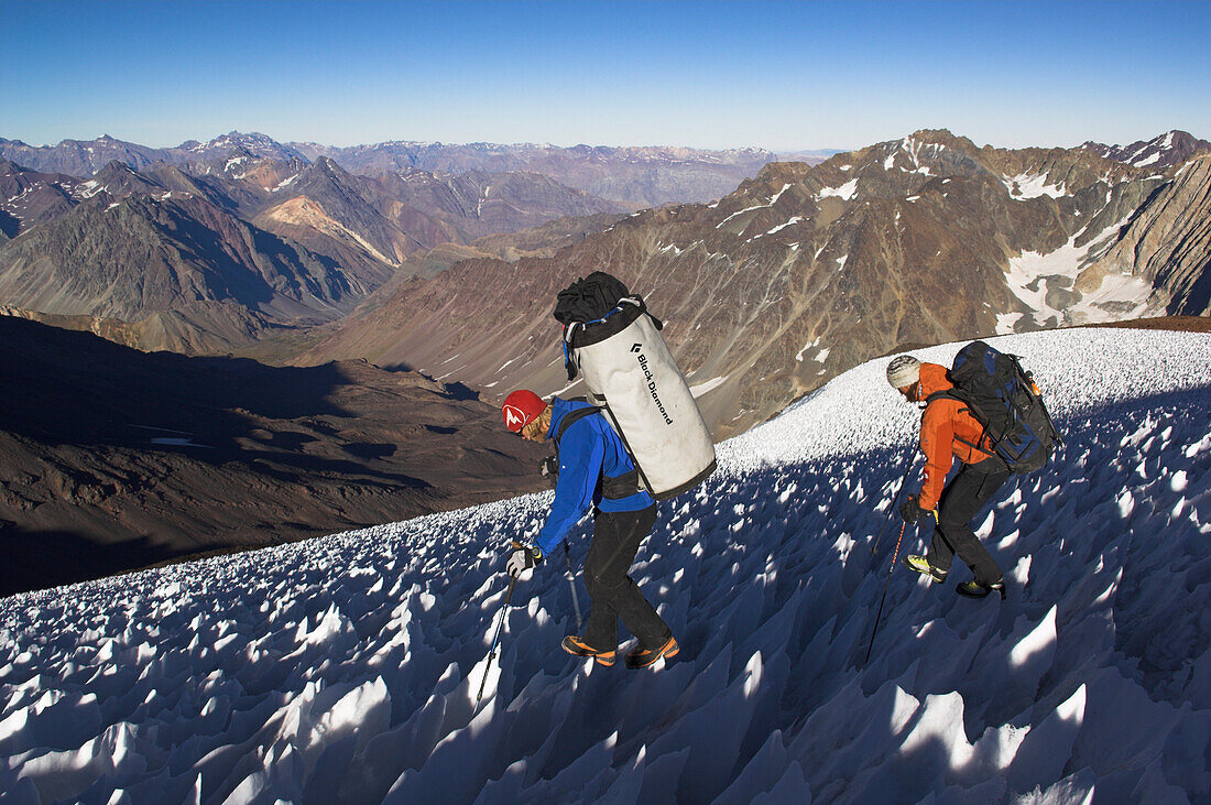
POLYGON ((585 557, 585 587, 592 604, 581 639, 595 649, 618 645, 619 619, 644 649, 672 637, 672 629, 627 575, 639 542, 655 524, 655 506, 637 512, 597 512, 593 518, 593 541, 585 557))

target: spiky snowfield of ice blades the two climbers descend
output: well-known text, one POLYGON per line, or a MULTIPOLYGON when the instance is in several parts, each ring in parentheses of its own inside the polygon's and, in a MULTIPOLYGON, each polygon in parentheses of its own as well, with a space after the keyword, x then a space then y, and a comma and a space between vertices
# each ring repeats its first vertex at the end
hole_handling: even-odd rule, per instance
POLYGON ((667 666, 563 654, 556 554, 476 709, 500 548, 549 494, 23 594, 0 600, 0 799, 1207 801, 1211 335, 993 343, 1067 439, 976 521, 1005 602, 889 576, 918 413, 884 358, 662 505, 633 576, 682 643, 667 666))

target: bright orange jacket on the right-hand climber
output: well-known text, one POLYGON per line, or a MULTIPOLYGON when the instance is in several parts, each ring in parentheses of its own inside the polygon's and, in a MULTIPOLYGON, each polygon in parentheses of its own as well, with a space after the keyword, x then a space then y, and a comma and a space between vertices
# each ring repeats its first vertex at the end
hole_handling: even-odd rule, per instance
MULTIPOLYGON (((919 399, 953 389, 946 379, 946 367, 937 363, 920 364, 919 399)), ((920 452, 925 454, 925 481, 917 502, 925 511, 937 508, 937 500, 951 471, 952 455, 964 464, 976 464, 992 455, 992 443, 983 426, 968 413, 966 403, 943 397, 925 406, 920 415, 920 452), (972 444, 980 444, 976 449, 972 444)))

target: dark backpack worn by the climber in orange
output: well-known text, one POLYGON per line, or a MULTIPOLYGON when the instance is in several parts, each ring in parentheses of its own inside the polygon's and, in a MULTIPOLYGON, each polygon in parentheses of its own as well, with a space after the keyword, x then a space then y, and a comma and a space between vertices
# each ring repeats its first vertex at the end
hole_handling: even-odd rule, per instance
POLYGON ((1010 472, 1034 472, 1048 462, 1056 443, 1063 443, 1033 375, 1022 369, 1016 355, 972 341, 954 356, 946 376, 954 389, 929 398, 965 403, 1010 472))

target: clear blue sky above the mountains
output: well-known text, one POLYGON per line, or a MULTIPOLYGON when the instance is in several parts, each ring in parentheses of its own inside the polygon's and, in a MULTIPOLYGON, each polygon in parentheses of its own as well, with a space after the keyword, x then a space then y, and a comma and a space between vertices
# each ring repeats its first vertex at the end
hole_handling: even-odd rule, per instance
POLYGON ((0 137, 1021 148, 1211 138, 1200 2, 0 0, 0 137))

